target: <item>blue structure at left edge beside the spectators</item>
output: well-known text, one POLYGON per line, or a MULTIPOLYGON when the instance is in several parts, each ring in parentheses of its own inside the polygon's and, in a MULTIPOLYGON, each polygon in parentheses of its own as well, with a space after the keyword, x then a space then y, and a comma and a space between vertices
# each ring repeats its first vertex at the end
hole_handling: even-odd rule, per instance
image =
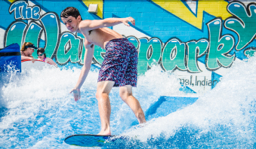
POLYGON ((11 66, 11 70, 21 72, 21 55, 19 44, 11 44, 4 49, 0 49, 0 72, 7 72, 7 66, 11 66))

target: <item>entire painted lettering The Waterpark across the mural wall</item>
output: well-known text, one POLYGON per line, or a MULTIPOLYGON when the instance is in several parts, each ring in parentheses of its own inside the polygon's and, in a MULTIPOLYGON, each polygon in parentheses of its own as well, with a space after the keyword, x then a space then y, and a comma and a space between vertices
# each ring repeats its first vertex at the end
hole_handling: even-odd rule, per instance
MULTIPOLYGON (((221 67, 229 67, 235 59, 235 54, 230 55, 231 50, 242 50, 255 38, 256 28, 251 23, 256 20, 256 4, 251 3, 246 8, 241 2, 231 2, 227 6, 228 11, 234 17, 228 18, 224 25, 239 36, 235 47, 233 35, 222 35, 223 20, 216 18, 207 23, 208 38, 198 41, 180 41, 171 37, 164 46, 160 38, 136 38, 128 36, 128 40, 134 44, 138 51, 138 74, 144 74, 152 65, 161 65, 164 70, 199 73, 198 59, 205 56, 205 65, 213 71, 221 67)), ((26 1, 15 1, 10 5, 9 13, 14 14, 16 21, 11 23, 5 31, 4 46, 13 43, 20 45, 29 41, 37 47, 45 47, 45 53, 51 59, 56 58, 60 65, 66 62, 79 62, 83 65, 85 46, 83 36, 70 32, 61 33, 60 18, 54 12, 39 15, 41 8, 30 7, 26 1), (29 21, 23 21, 29 20, 29 21), (37 21, 39 20, 39 21, 37 21)), ((230 32, 230 31, 229 31, 230 32)), ((245 50, 245 56, 254 53, 255 50, 245 50)), ((101 64, 106 51, 101 47, 94 47, 93 62, 101 64)), ((36 53, 32 56, 36 57, 36 53)))

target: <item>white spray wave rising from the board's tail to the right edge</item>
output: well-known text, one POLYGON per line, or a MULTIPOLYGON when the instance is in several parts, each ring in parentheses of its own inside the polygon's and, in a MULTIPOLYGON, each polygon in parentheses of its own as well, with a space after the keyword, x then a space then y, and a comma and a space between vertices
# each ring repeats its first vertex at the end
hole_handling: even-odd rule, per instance
POLYGON ((146 126, 124 135, 136 136, 150 147, 157 146, 152 144, 155 141, 149 142, 152 138, 162 140, 164 147, 171 144, 165 141, 171 141, 172 147, 256 147, 255 68, 256 57, 235 62, 217 87, 199 96, 193 105, 150 120, 146 126))

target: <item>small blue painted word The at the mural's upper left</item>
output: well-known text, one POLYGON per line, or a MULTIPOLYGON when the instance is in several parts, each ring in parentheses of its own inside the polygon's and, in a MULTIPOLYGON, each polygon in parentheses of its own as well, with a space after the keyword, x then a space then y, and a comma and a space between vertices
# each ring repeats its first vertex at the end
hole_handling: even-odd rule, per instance
POLYGON ((39 6, 29 7, 26 1, 17 1, 11 4, 9 8, 9 13, 14 12, 15 20, 22 19, 34 19, 38 20, 40 17, 40 8, 39 6))

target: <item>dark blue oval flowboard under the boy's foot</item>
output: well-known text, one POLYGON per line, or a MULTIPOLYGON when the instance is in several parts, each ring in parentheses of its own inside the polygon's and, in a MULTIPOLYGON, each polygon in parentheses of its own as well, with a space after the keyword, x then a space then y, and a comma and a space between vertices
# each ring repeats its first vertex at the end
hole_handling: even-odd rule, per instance
POLYGON ((91 135, 79 134, 69 135, 65 138, 66 144, 76 145, 81 147, 103 147, 106 144, 122 140, 124 137, 116 137, 116 135, 91 135))

